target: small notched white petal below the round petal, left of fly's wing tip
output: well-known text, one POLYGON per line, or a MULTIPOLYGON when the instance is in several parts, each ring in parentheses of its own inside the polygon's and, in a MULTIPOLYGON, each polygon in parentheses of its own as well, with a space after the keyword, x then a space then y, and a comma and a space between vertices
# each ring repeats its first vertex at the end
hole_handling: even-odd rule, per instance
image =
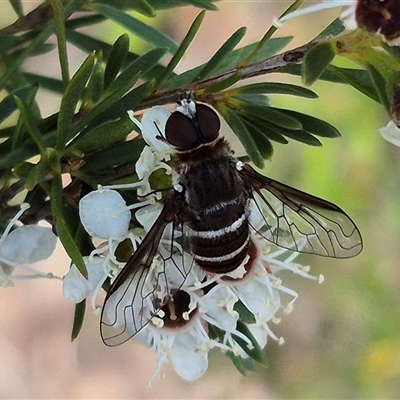
POLYGON ((88 257, 83 259, 88 271, 88 279, 84 278, 75 264, 72 264, 63 278, 63 297, 74 303, 80 303, 89 294, 93 293, 97 285, 106 278, 102 259, 95 258, 92 261, 89 261, 88 257))

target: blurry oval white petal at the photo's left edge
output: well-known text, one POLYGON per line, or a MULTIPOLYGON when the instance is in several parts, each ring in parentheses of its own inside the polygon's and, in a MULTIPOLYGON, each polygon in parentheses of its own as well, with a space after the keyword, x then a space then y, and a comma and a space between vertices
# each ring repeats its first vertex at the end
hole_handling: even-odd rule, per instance
POLYGON ((4 239, 1 258, 16 264, 33 264, 49 258, 56 247, 57 237, 50 228, 24 225, 4 239))

